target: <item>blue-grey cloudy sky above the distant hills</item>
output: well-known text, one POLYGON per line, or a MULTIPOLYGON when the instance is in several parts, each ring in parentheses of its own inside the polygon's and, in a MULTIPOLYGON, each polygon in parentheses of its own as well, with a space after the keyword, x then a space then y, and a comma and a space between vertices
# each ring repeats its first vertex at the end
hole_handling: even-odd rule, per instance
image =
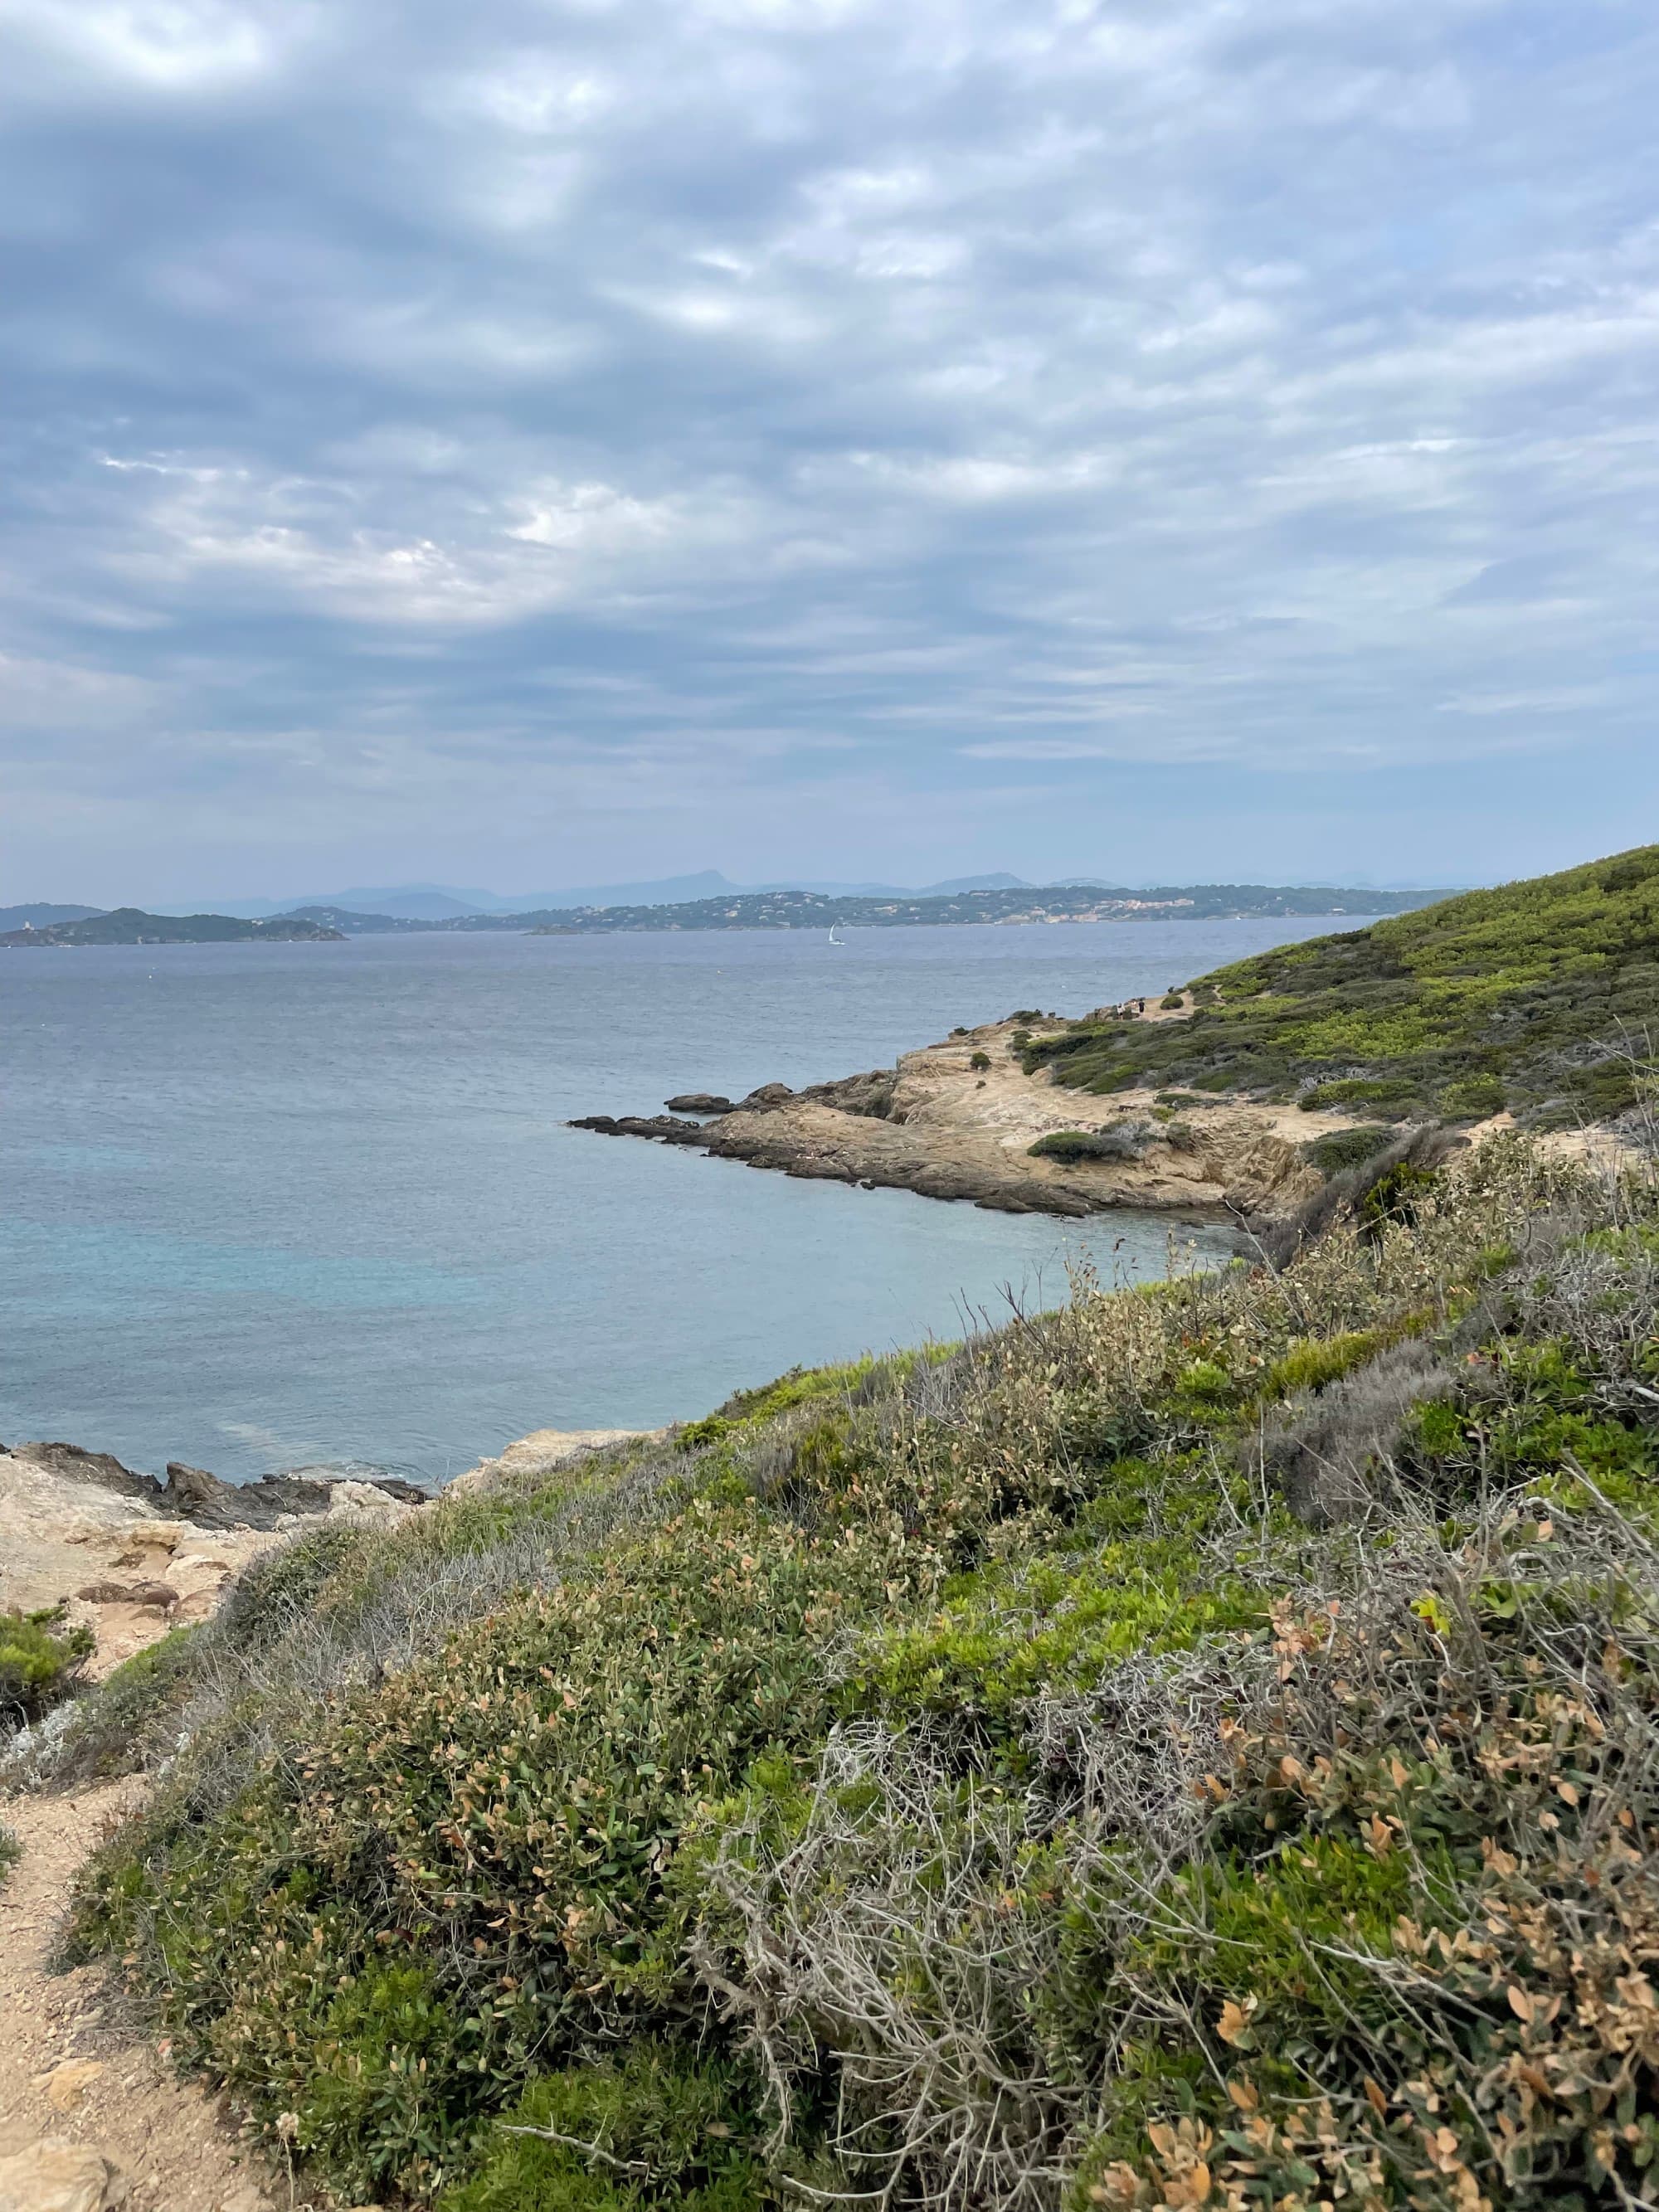
POLYGON ((1652 0, 0 0, 0 902, 1659 836, 1652 0))

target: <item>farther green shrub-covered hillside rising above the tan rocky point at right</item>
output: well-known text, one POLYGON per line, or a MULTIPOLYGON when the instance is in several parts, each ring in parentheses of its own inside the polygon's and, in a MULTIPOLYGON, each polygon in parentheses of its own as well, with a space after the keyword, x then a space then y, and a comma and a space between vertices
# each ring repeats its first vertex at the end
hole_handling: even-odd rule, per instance
POLYGON ((1524 1126, 1637 1099, 1659 1009, 1659 845, 1281 945, 1192 987, 1186 1020, 1084 1020, 1026 1066, 1110 1093, 1172 1086, 1385 1119, 1524 1126))

